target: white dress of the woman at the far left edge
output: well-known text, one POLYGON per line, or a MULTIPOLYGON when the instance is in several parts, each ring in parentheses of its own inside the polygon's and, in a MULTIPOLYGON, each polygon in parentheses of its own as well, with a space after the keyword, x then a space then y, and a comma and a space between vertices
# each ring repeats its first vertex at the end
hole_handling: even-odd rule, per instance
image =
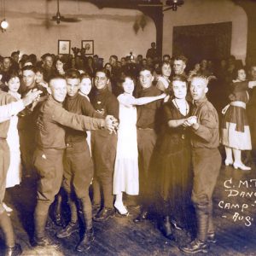
MULTIPOLYGON (((10 93, 11 94, 11 93, 10 93)), ((15 95, 17 100, 20 99, 20 95, 15 95)), ((9 119, 9 130, 7 133, 6 141, 9 145, 10 151, 10 163, 6 177, 6 188, 14 187, 20 184, 21 177, 21 159, 20 159, 20 137, 17 129, 18 117, 15 115, 9 119)))

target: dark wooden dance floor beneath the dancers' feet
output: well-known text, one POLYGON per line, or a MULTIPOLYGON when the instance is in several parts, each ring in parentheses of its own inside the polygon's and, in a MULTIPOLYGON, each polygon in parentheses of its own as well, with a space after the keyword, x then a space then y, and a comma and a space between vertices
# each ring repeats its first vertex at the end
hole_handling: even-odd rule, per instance
MULTIPOLYGON (((207 255, 256 255, 256 182, 250 182, 251 179, 256 179, 255 166, 250 172, 235 170, 231 166, 222 166, 214 192, 214 223, 218 243, 211 246, 207 255), (224 183, 230 178, 232 183, 224 183), (230 189, 228 187, 234 189, 232 195, 237 193, 239 195, 228 196, 230 194, 226 191, 230 189), (239 217, 235 218, 234 214, 235 217, 237 215, 239 217)), ((131 215, 127 218, 114 217, 106 223, 94 224, 96 240, 88 253, 74 251, 79 241, 79 234, 63 240, 55 238, 55 232, 60 230, 57 226, 47 230, 47 233, 59 244, 59 248, 35 249, 29 242, 29 236, 33 230, 34 186, 28 180, 20 188, 12 189, 11 192, 11 201, 9 195, 6 201, 14 207, 11 218, 17 241, 23 248, 22 255, 184 255, 179 252, 178 246, 190 239, 188 234, 178 231, 175 234, 177 242, 168 241, 162 236, 153 220, 134 224, 132 219, 137 215, 138 209, 131 208, 131 215)), ((0 255, 3 254, 0 252, 0 255)))

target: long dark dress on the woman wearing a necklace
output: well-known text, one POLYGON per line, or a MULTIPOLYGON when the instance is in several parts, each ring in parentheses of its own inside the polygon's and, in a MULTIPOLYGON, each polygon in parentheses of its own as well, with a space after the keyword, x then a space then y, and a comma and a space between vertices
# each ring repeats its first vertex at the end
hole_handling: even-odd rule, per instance
POLYGON ((167 122, 171 119, 184 119, 172 101, 164 105, 166 129, 159 137, 157 147, 158 190, 160 209, 165 216, 186 225, 191 215, 192 171, 190 167, 189 131, 183 126, 170 128, 167 122))

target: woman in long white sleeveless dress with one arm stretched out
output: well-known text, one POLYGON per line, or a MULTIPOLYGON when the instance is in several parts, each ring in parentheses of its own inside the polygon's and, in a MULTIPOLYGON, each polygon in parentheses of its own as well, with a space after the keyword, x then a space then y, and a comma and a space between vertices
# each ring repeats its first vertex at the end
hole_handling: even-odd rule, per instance
POLYGON ((143 97, 136 99, 132 96, 134 90, 133 79, 125 76, 122 83, 124 93, 118 96, 119 101, 119 129, 117 154, 113 172, 113 195, 116 195, 114 207, 122 216, 129 212, 123 203, 123 192, 127 195, 138 195, 138 151, 137 151, 137 108, 134 105, 143 105, 166 97, 143 97))

